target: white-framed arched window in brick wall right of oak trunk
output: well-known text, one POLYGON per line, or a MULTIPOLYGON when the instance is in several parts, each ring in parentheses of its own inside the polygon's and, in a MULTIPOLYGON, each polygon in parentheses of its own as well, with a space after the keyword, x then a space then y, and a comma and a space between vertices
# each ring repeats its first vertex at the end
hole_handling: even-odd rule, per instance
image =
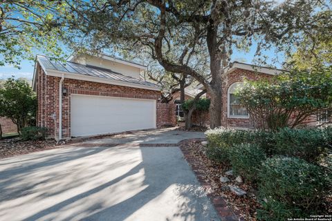
POLYGON ((240 104, 237 95, 235 95, 237 88, 241 85, 242 85, 241 82, 237 82, 232 84, 228 88, 228 117, 237 117, 237 118, 249 117, 246 106, 240 104))

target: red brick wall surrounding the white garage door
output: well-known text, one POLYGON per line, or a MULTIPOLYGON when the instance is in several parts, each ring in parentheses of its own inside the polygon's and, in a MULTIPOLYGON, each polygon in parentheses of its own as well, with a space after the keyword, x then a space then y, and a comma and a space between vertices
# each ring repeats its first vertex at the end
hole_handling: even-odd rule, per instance
MULTIPOLYGON (((36 87, 38 98, 37 125, 47 127, 50 137, 57 137, 59 132, 59 81, 59 77, 45 75, 44 71, 39 66, 36 87), (56 124, 55 120, 52 118, 53 113, 55 113, 56 116, 56 124), (56 130, 55 125, 57 125, 56 130)), ((160 98, 160 91, 157 90, 116 86, 76 79, 65 78, 62 86, 67 89, 67 95, 62 96, 63 138, 71 137, 71 94, 156 100, 160 98)), ((160 126, 162 122, 158 121, 163 121, 163 117, 160 117, 157 106, 157 125, 160 126)))

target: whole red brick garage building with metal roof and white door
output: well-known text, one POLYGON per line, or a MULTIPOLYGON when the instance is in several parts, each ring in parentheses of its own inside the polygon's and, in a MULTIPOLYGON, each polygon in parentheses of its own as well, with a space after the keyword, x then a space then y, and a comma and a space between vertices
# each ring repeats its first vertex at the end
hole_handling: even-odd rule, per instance
POLYGON ((73 55, 64 63, 37 56, 37 126, 61 140, 173 124, 172 106, 158 103, 160 88, 140 79, 145 70, 108 55, 73 55))

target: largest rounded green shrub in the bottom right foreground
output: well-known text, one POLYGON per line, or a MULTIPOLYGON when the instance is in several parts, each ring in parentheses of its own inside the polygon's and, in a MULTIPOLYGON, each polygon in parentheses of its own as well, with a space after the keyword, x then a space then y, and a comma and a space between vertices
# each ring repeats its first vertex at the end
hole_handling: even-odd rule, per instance
POLYGON ((319 214, 329 190, 327 175, 320 166, 295 157, 275 156, 261 165, 260 220, 287 220, 319 214))

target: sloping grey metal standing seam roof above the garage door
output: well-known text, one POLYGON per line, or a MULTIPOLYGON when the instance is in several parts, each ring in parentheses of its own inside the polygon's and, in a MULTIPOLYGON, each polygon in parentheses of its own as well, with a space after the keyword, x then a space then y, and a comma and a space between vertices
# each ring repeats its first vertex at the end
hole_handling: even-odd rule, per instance
POLYGON ((121 73, 117 73, 113 70, 107 68, 100 68, 95 66, 89 66, 84 64, 77 64, 71 61, 60 62, 51 57, 47 57, 44 55, 37 56, 38 61, 41 65, 47 70, 57 70, 66 73, 80 74, 91 77, 100 77, 103 79, 110 79, 115 81, 122 81, 131 84, 139 84, 143 86, 151 86, 155 88, 159 88, 158 85, 153 84, 148 81, 143 81, 141 79, 137 79, 134 77, 129 77, 126 75, 122 75, 121 73))

